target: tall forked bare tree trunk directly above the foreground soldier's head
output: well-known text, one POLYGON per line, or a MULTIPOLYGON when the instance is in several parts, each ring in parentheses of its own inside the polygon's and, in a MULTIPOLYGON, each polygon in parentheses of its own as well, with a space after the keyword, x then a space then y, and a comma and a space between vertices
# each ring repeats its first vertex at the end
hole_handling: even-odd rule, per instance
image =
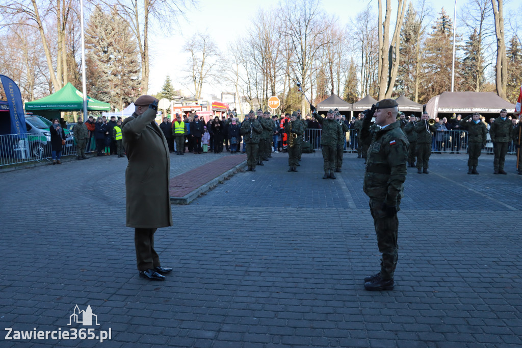
POLYGON ((389 25, 390 17, 392 16, 391 0, 386 0, 386 13, 384 22, 382 21, 383 10, 381 5, 382 0, 378 0, 379 6, 379 64, 378 64, 378 81, 379 81, 379 96, 378 99, 390 98, 395 87, 395 80, 397 78, 397 69, 399 68, 399 44, 398 40, 402 21, 404 20, 404 13, 406 9, 405 0, 397 0, 397 18, 395 21, 395 30, 392 34, 390 42, 389 25), (382 27, 381 27, 382 25, 382 27))

